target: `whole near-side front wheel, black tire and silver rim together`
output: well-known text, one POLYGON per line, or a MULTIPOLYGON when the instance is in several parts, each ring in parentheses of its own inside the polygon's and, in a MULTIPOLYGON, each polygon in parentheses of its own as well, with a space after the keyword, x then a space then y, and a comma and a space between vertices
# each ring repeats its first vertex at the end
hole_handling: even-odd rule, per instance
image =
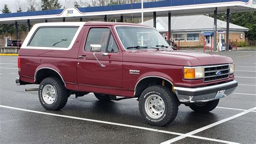
POLYGON ((147 87, 139 98, 139 111, 150 125, 170 124, 178 113, 178 100, 169 88, 155 85, 147 87))

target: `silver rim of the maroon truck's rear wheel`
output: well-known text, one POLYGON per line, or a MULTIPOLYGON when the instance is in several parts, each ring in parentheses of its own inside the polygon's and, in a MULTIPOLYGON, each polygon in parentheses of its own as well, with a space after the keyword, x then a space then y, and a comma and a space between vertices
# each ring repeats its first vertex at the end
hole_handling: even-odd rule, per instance
POLYGON ((52 85, 46 85, 42 91, 43 99, 46 104, 52 104, 56 100, 56 91, 52 85))

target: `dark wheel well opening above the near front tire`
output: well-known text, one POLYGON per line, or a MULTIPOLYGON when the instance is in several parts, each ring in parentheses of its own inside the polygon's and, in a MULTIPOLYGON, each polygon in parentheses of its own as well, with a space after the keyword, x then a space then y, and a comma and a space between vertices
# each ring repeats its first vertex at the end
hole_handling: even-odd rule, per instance
POLYGON ((153 86, 153 85, 163 85, 169 88, 172 88, 172 84, 163 79, 163 78, 156 78, 156 77, 152 77, 152 78, 145 78, 141 81, 139 81, 138 85, 135 88, 135 96, 139 97, 140 94, 142 94, 142 92, 149 86, 153 86))

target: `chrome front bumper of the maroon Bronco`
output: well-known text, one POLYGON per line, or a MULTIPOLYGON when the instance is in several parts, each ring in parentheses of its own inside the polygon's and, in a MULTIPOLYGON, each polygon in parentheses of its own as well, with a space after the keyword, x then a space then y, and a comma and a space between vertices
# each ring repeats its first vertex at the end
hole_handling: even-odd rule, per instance
POLYGON ((237 86, 237 81, 233 80, 228 83, 205 87, 173 88, 180 102, 207 102, 226 97, 227 95, 231 94, 237 86), (221 96, 218 95, 218 97, 216 97, 217 92, 223 90, 225 90, 225 92, 221 96))

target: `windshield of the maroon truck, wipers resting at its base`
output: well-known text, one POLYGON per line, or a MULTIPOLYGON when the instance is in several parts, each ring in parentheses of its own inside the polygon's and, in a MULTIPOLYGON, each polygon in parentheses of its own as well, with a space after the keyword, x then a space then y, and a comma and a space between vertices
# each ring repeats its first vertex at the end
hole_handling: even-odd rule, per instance
POLYGON ((116 30, 126 50, 170 49, 170 45, 155 29, 134 26, 117 26, 116 30))

